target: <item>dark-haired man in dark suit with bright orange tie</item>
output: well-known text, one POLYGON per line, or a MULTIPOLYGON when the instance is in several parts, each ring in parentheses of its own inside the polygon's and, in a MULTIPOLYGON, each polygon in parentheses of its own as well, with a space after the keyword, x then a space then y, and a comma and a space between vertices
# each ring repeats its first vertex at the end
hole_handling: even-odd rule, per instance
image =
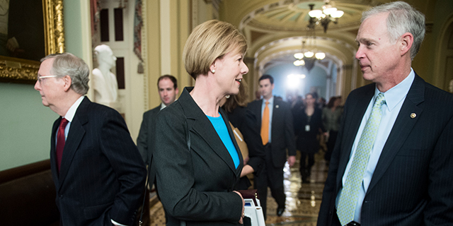
POLYGON ((259 78, 261 100, 254 100, 248 104, 248 109, 256 115, 260 125, 261 138, 265 145, 264 169, 255 178, 255 187, 258 189, 260 203, 266 218, 266 199, 268 186, 277 202, 277 215, 281 216, 285 210, 285 190, 283 187, 283 167, 294 165, 296 160, 296 143, 292 124, 291 107, 273 96, 274 78, 263 75, 259 78))

